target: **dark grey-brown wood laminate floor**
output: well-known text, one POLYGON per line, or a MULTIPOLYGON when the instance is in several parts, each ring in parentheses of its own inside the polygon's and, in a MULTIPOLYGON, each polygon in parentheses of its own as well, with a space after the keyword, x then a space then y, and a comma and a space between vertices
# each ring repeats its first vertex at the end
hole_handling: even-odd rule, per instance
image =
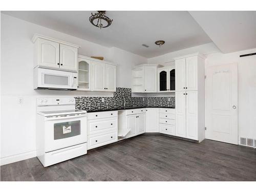
POLYGON ((49 167, 1 166, 2 181, 256 181, 256 150, 217 141, 141 135, 49 167))

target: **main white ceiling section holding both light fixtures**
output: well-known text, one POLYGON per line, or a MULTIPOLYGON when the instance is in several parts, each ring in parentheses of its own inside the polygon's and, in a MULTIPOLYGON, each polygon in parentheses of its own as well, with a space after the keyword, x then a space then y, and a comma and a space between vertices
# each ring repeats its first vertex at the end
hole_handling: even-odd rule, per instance
POLYGON ((37 25, 147 58, 211 42, 187 11, 107 11, 106 15, 114 21, 101 30, 89 22, 91 12, 96 11, 3 11, 37 25), (159 48, 156 40, 165 40, 165 45, 159 48))

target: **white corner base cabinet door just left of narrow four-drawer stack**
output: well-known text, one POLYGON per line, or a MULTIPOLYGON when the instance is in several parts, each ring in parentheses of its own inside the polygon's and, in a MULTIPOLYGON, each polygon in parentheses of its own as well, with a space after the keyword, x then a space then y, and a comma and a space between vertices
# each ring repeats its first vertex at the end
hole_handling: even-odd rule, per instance
POLYGON ((147 133, 159 132, 159 109, 158 108, 146 109, 146 132, 147 133))

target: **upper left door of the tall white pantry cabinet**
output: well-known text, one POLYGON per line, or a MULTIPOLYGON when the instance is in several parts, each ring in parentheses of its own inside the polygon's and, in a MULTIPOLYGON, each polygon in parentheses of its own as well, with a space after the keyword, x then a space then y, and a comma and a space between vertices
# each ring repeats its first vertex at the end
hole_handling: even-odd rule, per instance
POLYGON ((176 91, 185 91, 185 70, 186 68, 186 59, 177 59, 175 60, 175 88, 176 91))

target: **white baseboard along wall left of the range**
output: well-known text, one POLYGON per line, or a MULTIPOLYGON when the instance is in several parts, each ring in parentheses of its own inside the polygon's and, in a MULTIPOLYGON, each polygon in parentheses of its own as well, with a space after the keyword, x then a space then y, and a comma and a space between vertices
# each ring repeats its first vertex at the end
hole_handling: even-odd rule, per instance
POLYGON ((22 161, 25 159, 30 159, 36 157, 36 150, 34 151, 30 151, 30 152, 25 152, 22 154, 16 154, 16 155, 11 155, 11 156, 7 156, 7 157, 2 157, 0 159, 0 165, 6 165, 9 163, 14 163, 17 161, 22 161))

